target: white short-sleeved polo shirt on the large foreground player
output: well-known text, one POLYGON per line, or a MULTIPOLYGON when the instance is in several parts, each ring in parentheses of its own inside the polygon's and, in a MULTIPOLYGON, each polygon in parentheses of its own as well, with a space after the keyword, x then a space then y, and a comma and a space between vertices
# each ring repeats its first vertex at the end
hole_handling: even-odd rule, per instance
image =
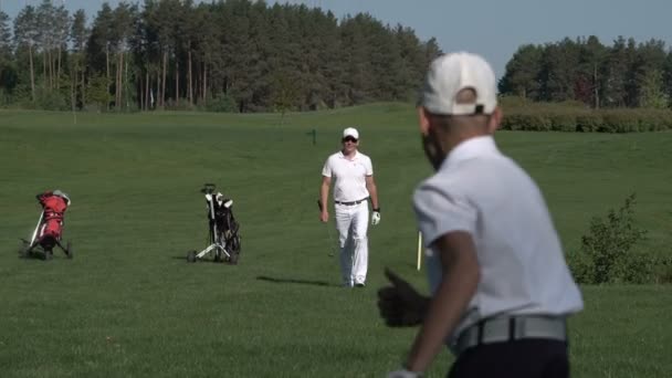
MULTIPOLYGON (((481 282, 449 343, 493 315, 571 314, 584 307, 546 202, 532 178, 490 136, 458 145, 413 196, 427 246, 451 231, 474 240, 481 282)), ((441 262, 428 250, 432 293, 441 262)))

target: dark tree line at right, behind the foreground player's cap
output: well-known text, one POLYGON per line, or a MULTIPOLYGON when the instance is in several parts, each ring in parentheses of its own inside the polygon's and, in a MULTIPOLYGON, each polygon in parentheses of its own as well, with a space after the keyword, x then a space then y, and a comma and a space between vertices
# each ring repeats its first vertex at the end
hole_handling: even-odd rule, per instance
POLYGON ((619 36, 603 45, 595 35, 521 46, 506 64, 502 95, 536 102, 584 103, 592 108, 668 108, 672 52, 660 40, 619 36))

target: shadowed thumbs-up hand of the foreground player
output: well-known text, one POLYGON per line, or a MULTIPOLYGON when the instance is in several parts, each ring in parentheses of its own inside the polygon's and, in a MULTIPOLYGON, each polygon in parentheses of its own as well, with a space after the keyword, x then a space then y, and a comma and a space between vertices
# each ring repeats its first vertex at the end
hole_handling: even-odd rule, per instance
POLYGON ((413 286, 389 269, 385 270, 385 275, 391 285, 378 291, 380 317, 390 327, 420 325, 429 306, 429 297, 418 293, 413 286))

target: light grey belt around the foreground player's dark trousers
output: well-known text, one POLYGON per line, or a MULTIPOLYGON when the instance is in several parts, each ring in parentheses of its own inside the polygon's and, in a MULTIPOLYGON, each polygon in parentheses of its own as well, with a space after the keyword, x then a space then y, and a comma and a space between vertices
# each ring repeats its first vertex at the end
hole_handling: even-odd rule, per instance
POLYGON ((462 351, 483 344, 504 343, 524 338, 567 340, 567 322, 560 316, 521 315, 481 321, 464 329, 453 351, 462 351))

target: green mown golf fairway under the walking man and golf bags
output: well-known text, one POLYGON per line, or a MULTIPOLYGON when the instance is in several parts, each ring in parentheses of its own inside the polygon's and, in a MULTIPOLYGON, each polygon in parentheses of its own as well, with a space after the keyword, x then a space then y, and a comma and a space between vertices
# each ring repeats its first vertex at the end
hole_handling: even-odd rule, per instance
MULTIPOLYGON (((672 133, 497 134, 542 187, 567 253, 591 217, 637 193, 640 249, 672 255, 672 133)), ((416 271, 410 204, 431 174, 410 105, 280 115, 0 111, 0 377, 381 377, 413 337, 379 321, 390 266, 416 271), (315 200, 346 126, 371 156, 382 219, 364 290, 338 286, 315 200), (313 144, 312 130, 316 130, 313 144), (214 182, 241 223, 238 266, 188 264, 206 246, 199 189, 214 182), (72 198, 74 260, 18 259, 40 207, 72 198)), ((666 377, 672 286, 584 286, 571 319, 574 377, 666 377)), ((452 357, 437 358, 430 377, 452 357)))

